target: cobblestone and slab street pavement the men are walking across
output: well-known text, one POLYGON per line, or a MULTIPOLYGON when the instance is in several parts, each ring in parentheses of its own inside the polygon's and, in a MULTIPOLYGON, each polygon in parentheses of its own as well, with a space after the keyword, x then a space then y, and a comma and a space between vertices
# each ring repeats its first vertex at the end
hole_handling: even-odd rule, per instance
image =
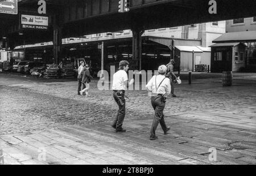
POLYGON ((0 148, 7 164, 256 164, 253 76, 236 77, 233 87, 218 78, 176 85, 164 111, 170 135, 160 135, 159 126, 159 140, 150 141, 146 91, 127 91, 128 131, 116 134, 109 127, 117 110, 112 91, 98 91, 96 80, 85 97, 76 95, 76 81, 0 74, 0 148), (234 141, 247 143, 237 149, 234 141), (216 162, 209 161, 210 147, 216 162), (47 161, 38 160, 40 148, 47 161))

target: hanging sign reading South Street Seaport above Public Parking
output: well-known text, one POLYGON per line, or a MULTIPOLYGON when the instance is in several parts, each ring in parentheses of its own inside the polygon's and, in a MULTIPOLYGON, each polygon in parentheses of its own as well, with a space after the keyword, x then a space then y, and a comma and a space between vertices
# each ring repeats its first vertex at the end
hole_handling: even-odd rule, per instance
POLYGON ((48 16, 21 15, 23 29, 48 29, 48 16))

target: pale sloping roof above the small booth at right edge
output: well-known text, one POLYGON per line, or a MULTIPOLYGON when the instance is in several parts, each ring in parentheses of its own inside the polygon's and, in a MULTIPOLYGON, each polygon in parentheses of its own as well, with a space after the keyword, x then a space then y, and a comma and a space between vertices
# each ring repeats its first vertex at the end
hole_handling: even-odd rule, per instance
POLYGON ((256 41, 256 31, 242 31, 242 32, 229 32, 216 38, 212 42, 225 43, 225 42, 254 42, 256 41))

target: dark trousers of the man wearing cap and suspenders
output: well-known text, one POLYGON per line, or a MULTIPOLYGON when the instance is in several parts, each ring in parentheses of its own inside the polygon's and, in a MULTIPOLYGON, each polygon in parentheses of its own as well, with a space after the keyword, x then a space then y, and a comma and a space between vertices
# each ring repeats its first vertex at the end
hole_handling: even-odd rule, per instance
POLYGON ((167 130, 166 122, 164 122, 164 115, 163 115, 163 110, 164 110, 164 106, 166 106, 166 103, 163 102, 162 96, 154 96, 154 97, 151 97, 151 104, 155 110, 155 114, 154 114, 154 119, 153 119, 153 123, 150 130, 150 134, 151 136, 154 137, 155 130, 158 127, 158 123, 160 123, 164 132, 166 132, 167 130))

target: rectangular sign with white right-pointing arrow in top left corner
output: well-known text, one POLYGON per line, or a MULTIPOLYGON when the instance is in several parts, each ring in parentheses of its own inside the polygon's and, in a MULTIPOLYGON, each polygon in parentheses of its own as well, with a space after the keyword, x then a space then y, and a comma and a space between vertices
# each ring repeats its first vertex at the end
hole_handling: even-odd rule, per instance
POLYGON ((18 14, 18 0, 0 1, 0 13, 18 14))

